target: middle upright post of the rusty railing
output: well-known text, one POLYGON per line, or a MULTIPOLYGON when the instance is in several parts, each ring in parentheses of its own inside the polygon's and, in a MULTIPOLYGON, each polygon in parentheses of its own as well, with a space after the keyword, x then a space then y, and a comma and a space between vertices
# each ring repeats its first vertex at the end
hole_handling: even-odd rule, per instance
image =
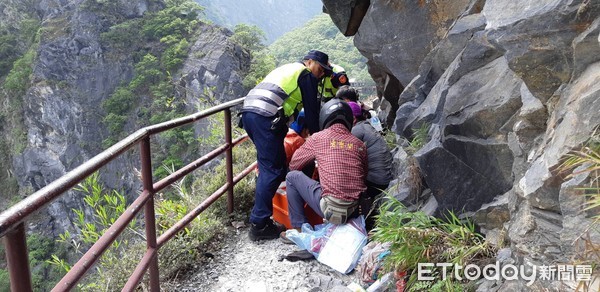
MULTIPOLYGON (((140 156, 142 161, 142 184, 144 190, 151 196, 144 206, 144 219, 146 222, 146 246, 148 249, 156 250, 156 222, 154 218, 154 187, 152 183, 152 161, 150 158, 150 137, 146 136, 140 143, 140 156)), ((158 253, 150 262, 148 268, 150 273, 150 291, 160 291, 160 279, 158 274, 158 253)))

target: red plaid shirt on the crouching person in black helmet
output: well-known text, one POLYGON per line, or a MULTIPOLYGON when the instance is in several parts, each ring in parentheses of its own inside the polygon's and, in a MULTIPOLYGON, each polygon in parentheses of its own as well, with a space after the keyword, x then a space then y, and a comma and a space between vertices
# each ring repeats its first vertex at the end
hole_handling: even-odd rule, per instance
POLYGON ((319 166, 322 196, 353 201, 367 189, 367 147, 344 125, 333 124, 310 136, 294 153, 290 169, 301 170, 313 160, 319 166))

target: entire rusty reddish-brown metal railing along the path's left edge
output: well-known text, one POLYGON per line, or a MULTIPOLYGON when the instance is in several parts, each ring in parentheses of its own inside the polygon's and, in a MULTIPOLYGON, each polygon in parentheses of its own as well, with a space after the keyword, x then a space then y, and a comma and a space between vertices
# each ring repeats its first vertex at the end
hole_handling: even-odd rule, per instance
POLYGON ((125 284, 123 291, 133 291, 146 271, 149 272, 151 290, 159 291, 158 250, 160 247, 175 236, 177 232, 185 228, 187 224, 225 192, 227 192, 227 211, 229 213, 233 212, 234 185, 256 167, 256 162, 254 162, 240 174, 235 177, 233 176, 232 148, 248 138, 247 135, 236 138, 235 140, 232 140, 231 137, 231 107, 242 103, 242 101, 243 98, 239 98, 196 114, 140 129, 0 214, 0 237, 4 238, 11 290, 19 292, 32 291, 25 233, 25 221, 27 218, 34 212, 46 206, 52 200, 67 192, 73 186, 83 181, 86 177, 108 162, 116 159, 126 150, 135 145, 139 145, 143 186, 142 193, 133 201, 133 203, 131 203, 131 205, 129 205, 127 210, 119 216, 115 223, 104 232, 100 239, 92 245, 60 282, 56 284, 52 291, 69 291, 73 289, 77 282, 83 278, 85 273, 102 256, 102 253, 106 251, 135 216, 138 215, 142 208, 144 209, 146 223, 146 253, 133 271, 129 281, 125 284), (150 136, 194 123, 221 111, 224 112, 225 144, 154 183, 152 181, 152 162, 150 158, 150 136), (179 222, 175 223, 170 229, 157 237, 154 218, 154 194, 223 153, 226 155, 227 164, 226 184, 210 195, 194 210, 185 215, 179 222))

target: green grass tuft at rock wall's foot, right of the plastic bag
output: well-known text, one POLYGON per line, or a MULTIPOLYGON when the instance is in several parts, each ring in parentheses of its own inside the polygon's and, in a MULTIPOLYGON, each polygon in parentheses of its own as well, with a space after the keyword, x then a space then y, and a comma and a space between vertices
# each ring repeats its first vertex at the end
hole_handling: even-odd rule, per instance
MULTIPOLYGON (((472 222, 460 220, 452 212, 448 212, 445 220, 423 212, 409 212, 391 196, 380 208, 373 239, 391 243, 390 255, 384 259, 384 269, 395 273, 407 272, 409 289, 417 283, 419 263, 466 266, 487 261, 495 255, 495 248, 475 232, 472 222)), ((452 287, 454 284, 461 285, 448 284, 452 287)))

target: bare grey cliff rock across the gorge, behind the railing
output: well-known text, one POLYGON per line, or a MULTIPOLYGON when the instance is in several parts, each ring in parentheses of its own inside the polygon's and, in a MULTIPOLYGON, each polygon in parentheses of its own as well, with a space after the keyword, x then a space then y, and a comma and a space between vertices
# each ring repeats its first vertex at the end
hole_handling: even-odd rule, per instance
MULTIPOLYGON (((30 9, 36 9, 42 19, 42 34, 32 86, 23 97, 27 145, 22 153, 13 155, 12 163, 20 188, 28 194, 103 150, 108 131, 102 123, 105 113, 101 105, 117 86, 134 77, 135 52, 110 51, 100 34, 115 24, 115 15, 139 18, 162 7, 157 1, 139 0, 110 2, 112 6, 105 10, 91 9, 89 5, 94 3, 31 3, 30 9)), ((179 87, 184 93, 178 97, 191 99, 194 90, 203 92, 204 88, 219 92, 216 97, 220 101, 243 96, 240 76, 249 66, 248 54, 228 41, 228 30, 204 24, 200 30, 183 70, 173 74, 173 82, 184 85, 179 87)), ((132 44, 131 50, 135 49, 139 46, 132 44)), ((190 107, 188 112, 196 110, 190 107)), ((125 132, 134 130, 129 126, 125 132)), ((139 154, 127 153, 101 170, 107 187, 135 196, 140 185, 134 171, 139 168, 138 161, 139 154)), ((41 222, 45 230, 60 233, 69 224, 65 214, 82 204, 74 196, 63 196, 45 211, 49 215, 41 222)))

